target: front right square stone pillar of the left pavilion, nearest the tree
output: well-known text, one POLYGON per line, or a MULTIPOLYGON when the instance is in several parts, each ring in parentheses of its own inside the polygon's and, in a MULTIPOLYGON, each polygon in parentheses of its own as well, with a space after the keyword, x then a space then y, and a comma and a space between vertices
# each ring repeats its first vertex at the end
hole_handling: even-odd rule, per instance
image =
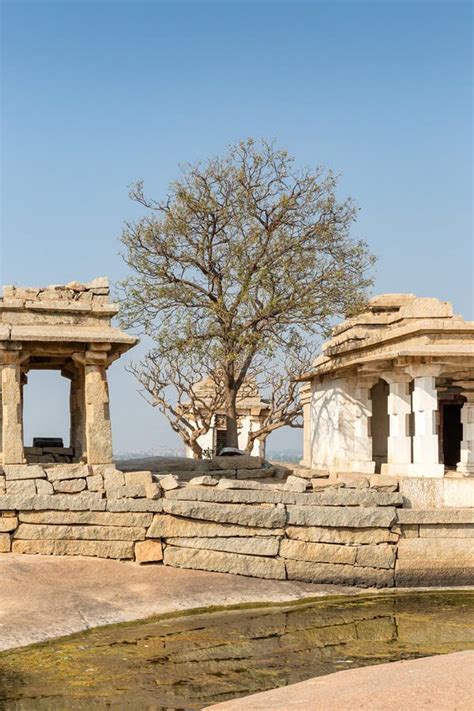
POLYGON ((87 463, 110 464, 113 461, 112 427, 105 366, 86 363, 84 384, 87 463))

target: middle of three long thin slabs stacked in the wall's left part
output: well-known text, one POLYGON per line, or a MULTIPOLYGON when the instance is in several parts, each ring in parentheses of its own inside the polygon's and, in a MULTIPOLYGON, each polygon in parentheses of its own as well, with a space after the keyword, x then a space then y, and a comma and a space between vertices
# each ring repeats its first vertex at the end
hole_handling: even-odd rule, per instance
POLYGON ((143 541, 145 528, 20 523, 14 537, 15 540, 143 541))

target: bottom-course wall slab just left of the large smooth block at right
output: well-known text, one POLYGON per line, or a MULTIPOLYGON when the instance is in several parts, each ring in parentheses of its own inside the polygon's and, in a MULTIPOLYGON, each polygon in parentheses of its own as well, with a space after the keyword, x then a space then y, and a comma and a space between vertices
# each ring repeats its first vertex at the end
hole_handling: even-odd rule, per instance
POLYGON ((308 563, 287 560, 286 572, 289 580, 305 580, 309 583, 339 583, 361 587, 392 587, 393 571, 376 568, 355 568, 352 565, 331 563, 308 563))

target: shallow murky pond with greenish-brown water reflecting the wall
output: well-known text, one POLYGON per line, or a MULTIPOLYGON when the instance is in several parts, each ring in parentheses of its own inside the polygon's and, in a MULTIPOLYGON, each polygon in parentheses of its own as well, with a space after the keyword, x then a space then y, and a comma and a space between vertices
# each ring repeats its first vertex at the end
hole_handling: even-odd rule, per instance
POLYGON ((341 669, 474 646, 474 592, 161 616, 0 654, 0 709, 201 709, 341 669))

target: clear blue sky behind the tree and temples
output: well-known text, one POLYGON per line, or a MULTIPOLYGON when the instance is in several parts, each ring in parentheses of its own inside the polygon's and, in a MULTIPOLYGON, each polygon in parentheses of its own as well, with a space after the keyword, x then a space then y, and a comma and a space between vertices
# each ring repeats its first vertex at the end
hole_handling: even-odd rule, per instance
MULTIPOLYGON (((127 186, 255 136, 341 173, 375 292, 473 317, 470 2, 0 4, 2 283, 123 277, 127 186)), ((110 382, 117 450, 176 442, 122 363, 110 382)), ((31 377, 27 441, 66 435, 64 388, 31 377)))

